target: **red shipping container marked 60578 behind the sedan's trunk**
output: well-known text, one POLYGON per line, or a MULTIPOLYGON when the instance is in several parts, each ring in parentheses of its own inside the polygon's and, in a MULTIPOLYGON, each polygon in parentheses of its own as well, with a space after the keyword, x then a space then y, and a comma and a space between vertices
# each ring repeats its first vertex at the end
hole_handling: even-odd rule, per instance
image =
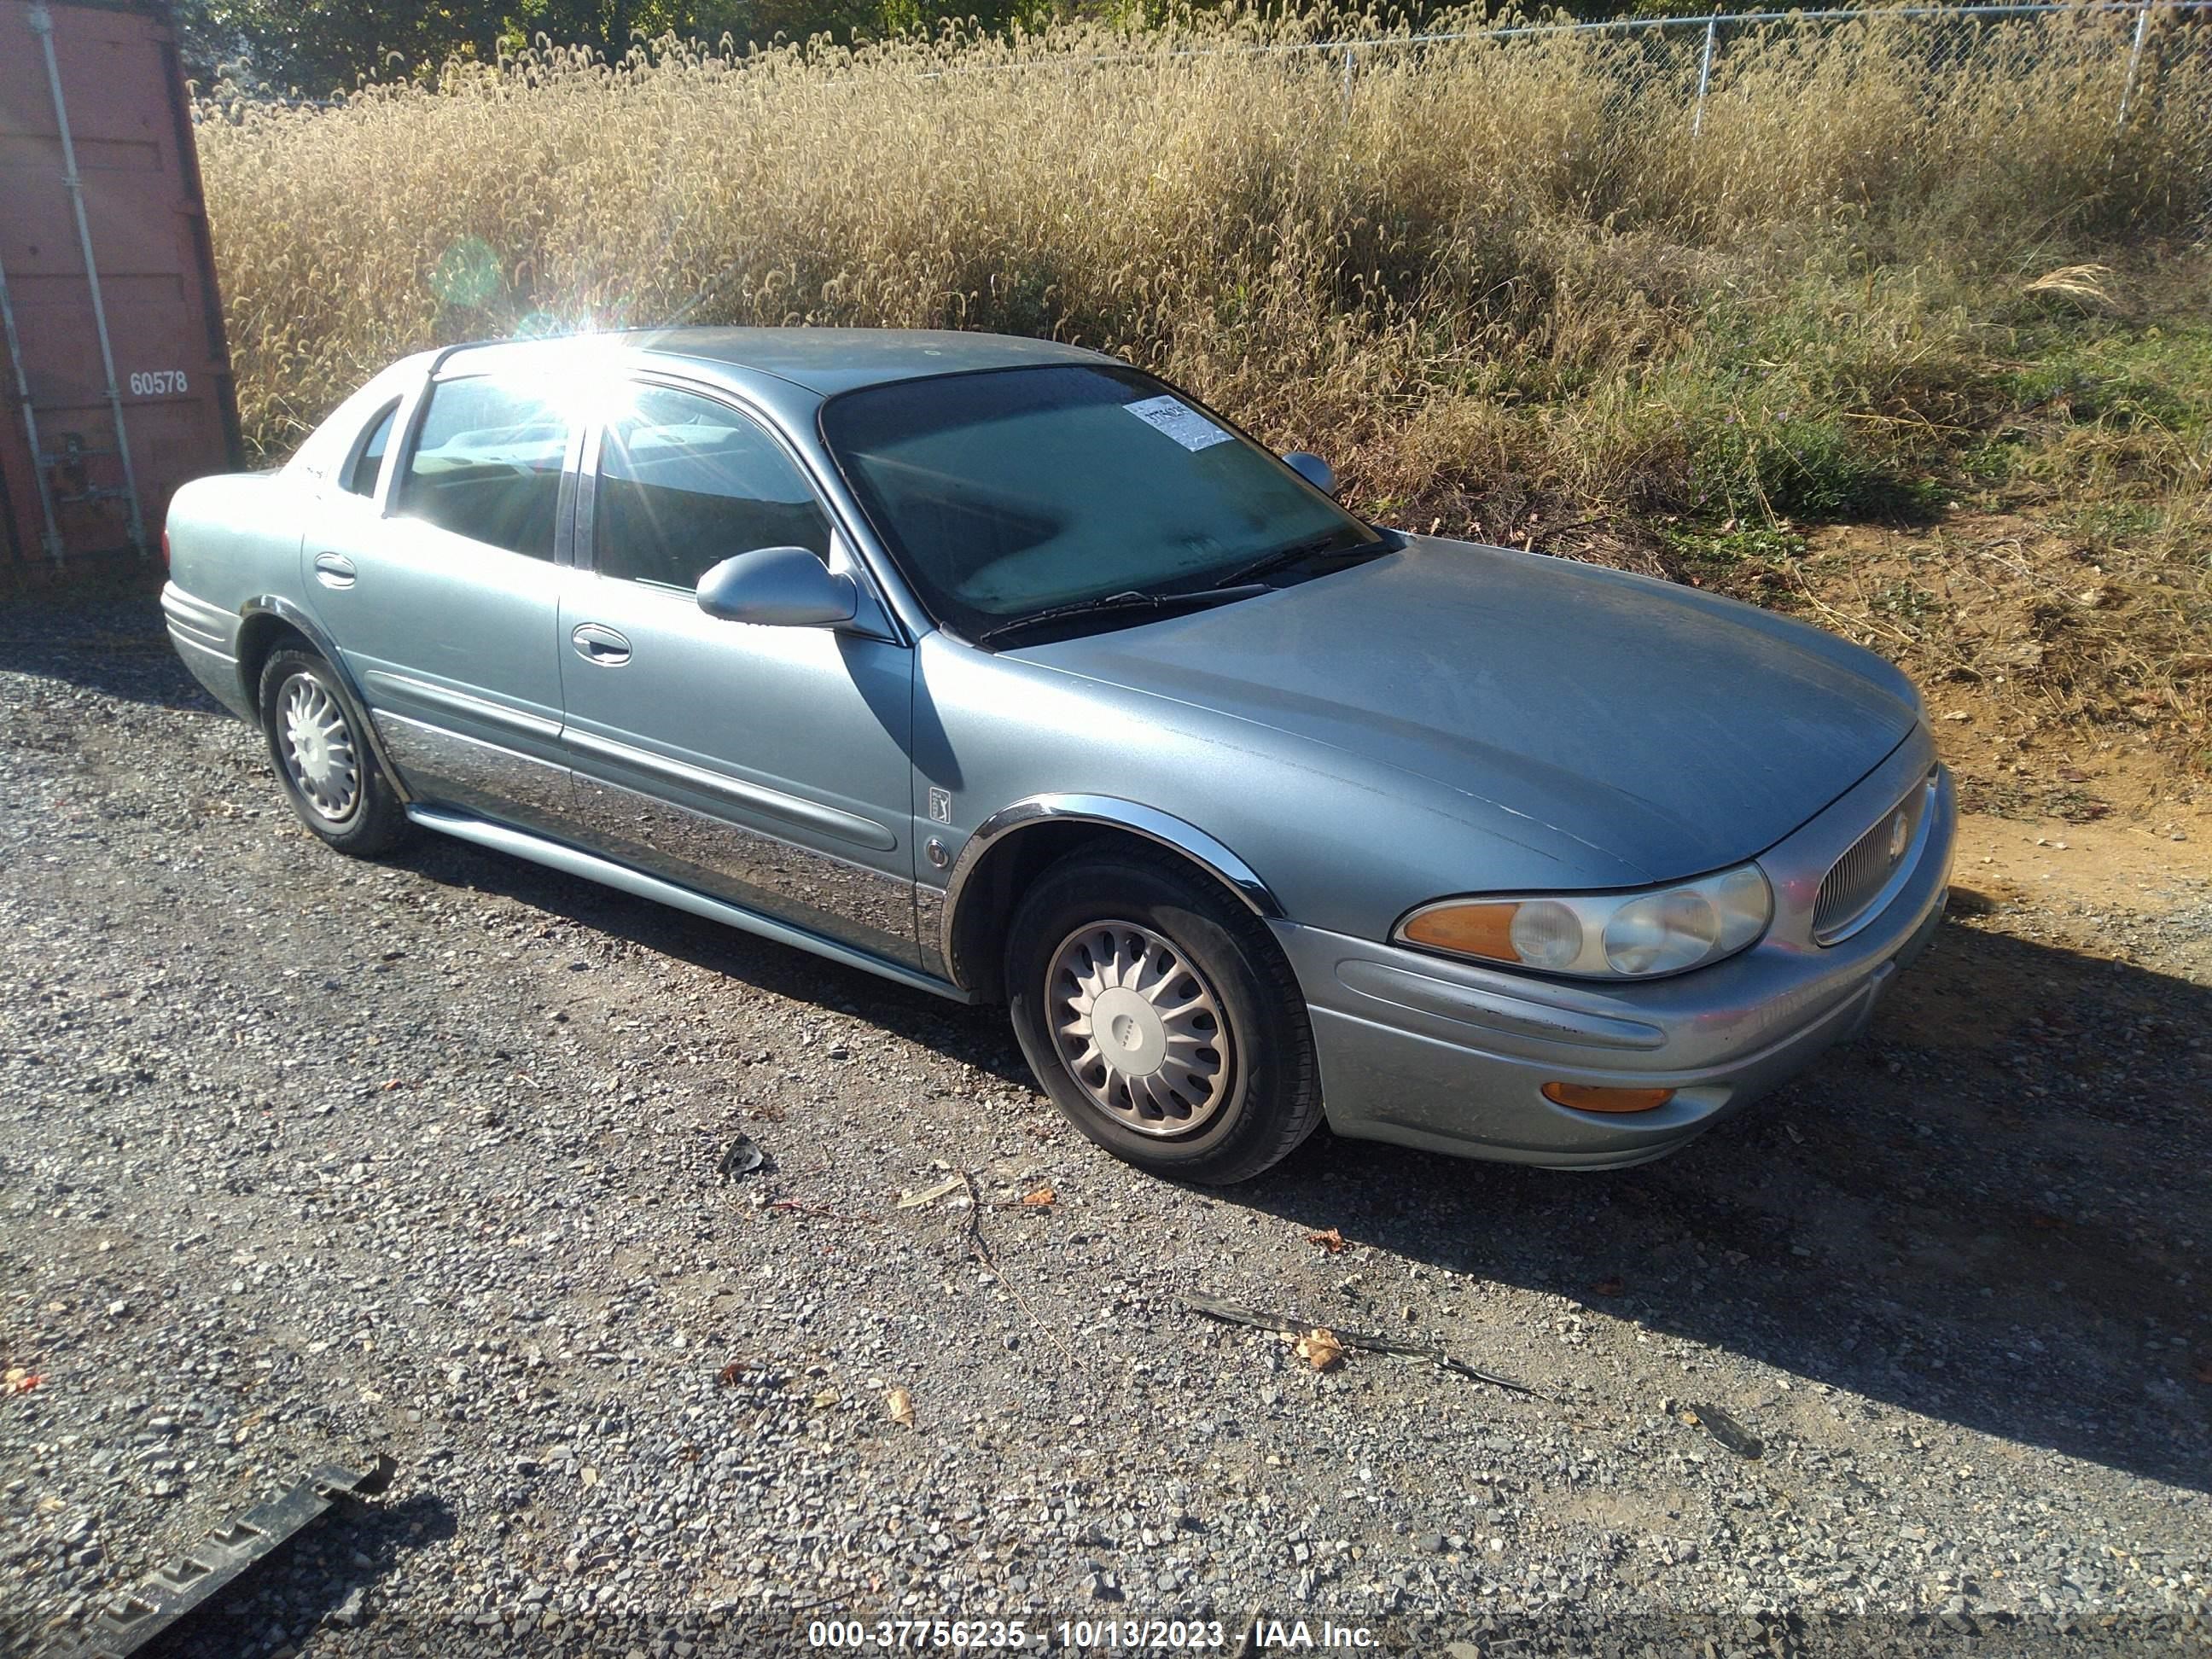
POLYGON ((161 568, 239 414, 164 4, 0 0, 0 591, 161 568))

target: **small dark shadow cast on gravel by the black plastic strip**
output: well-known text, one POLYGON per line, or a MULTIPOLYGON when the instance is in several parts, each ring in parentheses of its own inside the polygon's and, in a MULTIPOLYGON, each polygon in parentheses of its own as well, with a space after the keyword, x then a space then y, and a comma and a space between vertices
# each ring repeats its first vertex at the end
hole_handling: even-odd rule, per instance
POLYGON ((144 1659, 237 1659, 301 1641, 325 1621, 374 1628, 378 1579, 411 1551, 458 1531, 453 1509, 436 1491, 392 1504, 341 1504, 139 1652, 144 1659))

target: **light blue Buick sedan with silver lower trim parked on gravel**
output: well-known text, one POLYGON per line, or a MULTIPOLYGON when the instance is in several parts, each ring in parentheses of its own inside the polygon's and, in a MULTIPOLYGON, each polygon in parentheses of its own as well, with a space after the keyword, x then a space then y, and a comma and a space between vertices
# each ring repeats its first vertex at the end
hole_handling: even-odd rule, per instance
POLYGON ((299 818, 411 825, 960 1002, 1192 1181, 1338 1135, 1681 1146, 1942 914, 1911 684, 1367 524, 1064 345, 675 330, 378 374, 170 507, 170 637, 299 818))

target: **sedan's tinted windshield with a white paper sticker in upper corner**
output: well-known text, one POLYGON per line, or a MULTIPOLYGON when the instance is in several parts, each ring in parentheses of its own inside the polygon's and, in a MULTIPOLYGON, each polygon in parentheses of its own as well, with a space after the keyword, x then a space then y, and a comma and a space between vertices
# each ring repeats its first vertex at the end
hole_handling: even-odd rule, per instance
POLYGON ((1265 449, 1117 365, 863 387, 823 407, 823 438, 922 604, 969 637, 1084 599, 1194 593, 1285 549, 1376 544, 1265 449))

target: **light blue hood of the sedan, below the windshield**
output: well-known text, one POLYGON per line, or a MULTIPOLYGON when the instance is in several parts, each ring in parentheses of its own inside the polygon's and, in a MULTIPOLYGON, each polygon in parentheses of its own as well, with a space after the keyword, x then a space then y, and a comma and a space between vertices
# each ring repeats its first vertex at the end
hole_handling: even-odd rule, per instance
POLYGON ((1239 604, 1009 655, 1338 750, 1345 770, 1394 768, 1648 880, 1772 847, 1920 712, 1896 668, 1818 628, 1433 538, 1239 604))

